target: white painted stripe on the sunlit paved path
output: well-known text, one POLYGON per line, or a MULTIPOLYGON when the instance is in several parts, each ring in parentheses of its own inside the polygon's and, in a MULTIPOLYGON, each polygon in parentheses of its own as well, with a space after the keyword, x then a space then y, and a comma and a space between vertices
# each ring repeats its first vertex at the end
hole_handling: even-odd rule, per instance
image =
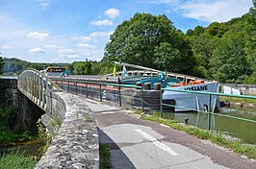
POLYGON ((160 149, 162 149, 165 152, 169 153, 170 155, 178 156, 178 154, 173 152, 168 146, 166 146, 166 144, 158 141, 156 138, 154 138, 153 136, 149 135, 148 133, 145 133, 145 132, 141 131, 140 129, 135 130, 135 132, 140 133, 144 138, 148 139, 153 144, 155 144, 157 147, 159 147, 160 149))

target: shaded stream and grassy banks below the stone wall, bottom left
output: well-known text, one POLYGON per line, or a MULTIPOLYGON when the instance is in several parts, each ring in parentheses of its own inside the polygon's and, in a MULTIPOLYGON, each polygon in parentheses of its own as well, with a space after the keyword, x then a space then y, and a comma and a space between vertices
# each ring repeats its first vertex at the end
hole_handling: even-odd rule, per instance
POLYGON ((0 168, 34 168, 43 154, 44 145, 38 133, 15 133, 0 125, 0 168))

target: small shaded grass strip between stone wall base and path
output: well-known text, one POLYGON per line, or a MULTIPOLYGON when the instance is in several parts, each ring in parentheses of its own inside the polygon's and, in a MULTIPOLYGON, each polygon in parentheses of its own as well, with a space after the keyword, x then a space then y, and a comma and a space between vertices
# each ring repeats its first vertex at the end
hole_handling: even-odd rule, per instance
POLYGON ((99 168, 111 169, 110 148, 107 144, 99 144, 99 168))

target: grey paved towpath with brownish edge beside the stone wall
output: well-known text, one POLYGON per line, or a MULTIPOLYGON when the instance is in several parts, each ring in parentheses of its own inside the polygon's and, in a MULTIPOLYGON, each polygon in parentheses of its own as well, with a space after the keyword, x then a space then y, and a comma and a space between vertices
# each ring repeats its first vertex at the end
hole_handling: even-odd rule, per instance
POLYGON ((256 161, 131 110, 86 99, 96 119, 99 141, 111 149, 115 169, 256 169, 256 161))

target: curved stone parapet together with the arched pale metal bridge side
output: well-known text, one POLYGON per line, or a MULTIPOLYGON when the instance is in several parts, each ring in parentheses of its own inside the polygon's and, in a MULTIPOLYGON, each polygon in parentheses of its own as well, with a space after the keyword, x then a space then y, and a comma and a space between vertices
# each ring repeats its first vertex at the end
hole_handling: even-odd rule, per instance
POLYGON ((41 122, 54 138, 36 168, 98 168, 97 128, 83 98, 64 92, 34 69, 22 72, 17 86, 45 111, 41 122))

